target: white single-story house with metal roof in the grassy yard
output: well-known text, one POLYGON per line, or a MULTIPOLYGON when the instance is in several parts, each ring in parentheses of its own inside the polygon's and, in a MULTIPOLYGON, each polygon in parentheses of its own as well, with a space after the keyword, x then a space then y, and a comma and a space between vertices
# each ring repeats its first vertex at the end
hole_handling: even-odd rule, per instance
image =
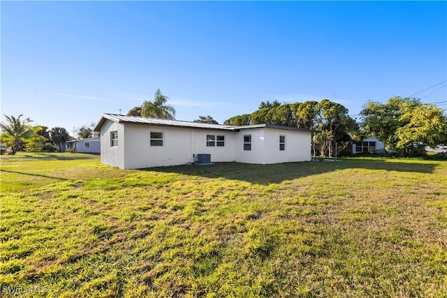
POLYGON ((103 114, 94 131, 101 133, 101 163, 122 169, 184 165, 203 156, 207 163, 260 164, 312 158, 312 131, 288 126, 227 126, 103 114))

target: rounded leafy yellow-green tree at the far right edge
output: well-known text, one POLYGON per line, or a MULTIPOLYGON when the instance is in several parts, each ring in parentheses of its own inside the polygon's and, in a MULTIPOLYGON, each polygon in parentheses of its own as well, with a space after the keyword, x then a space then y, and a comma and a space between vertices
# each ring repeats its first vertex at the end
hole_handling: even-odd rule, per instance
POLYGON ((446 142, 446 115, 435 105, 420 103, 418 98, 396 96, 386 103, 369 101, 360 115, 365 132, 400 155, 411 153, 416 145, 446 142))

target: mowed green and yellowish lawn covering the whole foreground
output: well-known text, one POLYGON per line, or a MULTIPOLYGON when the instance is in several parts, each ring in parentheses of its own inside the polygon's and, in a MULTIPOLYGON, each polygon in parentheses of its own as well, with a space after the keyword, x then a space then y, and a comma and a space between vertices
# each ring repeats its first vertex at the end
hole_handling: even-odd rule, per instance
POLYGON ((0 237, 24 297, 445 297, 447 161, 2 159, 0 237))

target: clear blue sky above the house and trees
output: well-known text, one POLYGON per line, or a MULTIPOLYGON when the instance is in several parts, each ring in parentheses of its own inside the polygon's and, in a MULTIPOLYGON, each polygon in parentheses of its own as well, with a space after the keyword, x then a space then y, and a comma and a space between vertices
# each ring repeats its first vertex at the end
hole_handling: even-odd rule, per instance
MULTIPOLYGON (((356 115, 447 78, 445 1, 0 5, 1 113, 70 133, 157 88, 177 119, 223 123, 265 100, 328 98, 356 115)), ((447 108, 446 83, 416 97, 447 108)))

